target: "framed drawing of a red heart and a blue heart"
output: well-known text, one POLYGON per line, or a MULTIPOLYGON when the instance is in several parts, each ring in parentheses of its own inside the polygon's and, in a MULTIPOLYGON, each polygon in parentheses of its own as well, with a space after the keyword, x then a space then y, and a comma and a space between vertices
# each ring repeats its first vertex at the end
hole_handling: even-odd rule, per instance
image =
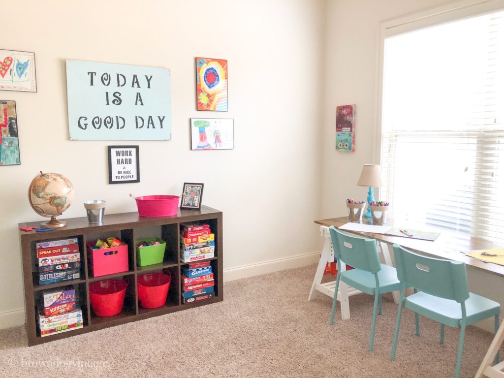
POLYGON ((0 50, 0 90, 37 91, 33 52, 0 50))

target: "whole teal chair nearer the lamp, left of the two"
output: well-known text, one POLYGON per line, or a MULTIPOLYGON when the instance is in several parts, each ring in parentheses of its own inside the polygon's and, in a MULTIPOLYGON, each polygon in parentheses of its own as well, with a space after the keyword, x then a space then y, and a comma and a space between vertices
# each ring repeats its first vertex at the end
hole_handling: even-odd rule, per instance
POLYGON ((340 280, 366 294, 374 294, 371 336, 369 338, 369 351, 372 351, 374 327, 376 325, 376 309, 380 306, 380 314, 382 313, 382 294, 400 290, 402 285, 397 279, 394 267, 380 264, 376 240, 350 236, 338 231, 334 226, 329 227, 329 230, 331 232, 331 240, 333 241, 334 254, 338 261, 331 325, 334 324, 334 312, 336 311, 336 298, 340 280), (354 269, 342 272, 342 262, 352 266, 354 269))

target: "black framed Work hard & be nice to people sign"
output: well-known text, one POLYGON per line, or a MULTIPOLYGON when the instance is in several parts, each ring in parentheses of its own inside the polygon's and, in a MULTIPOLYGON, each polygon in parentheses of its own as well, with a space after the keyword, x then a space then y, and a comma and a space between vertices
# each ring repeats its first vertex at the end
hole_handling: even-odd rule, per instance
POLYGON ((138 146, 108 146, 108 183, 140 182, 138 146))

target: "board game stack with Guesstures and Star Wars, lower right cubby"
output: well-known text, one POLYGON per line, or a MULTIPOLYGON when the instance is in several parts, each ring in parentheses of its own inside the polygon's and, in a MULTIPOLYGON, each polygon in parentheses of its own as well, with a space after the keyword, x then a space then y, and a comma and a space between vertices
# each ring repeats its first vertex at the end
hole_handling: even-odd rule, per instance
POLYGON ((210 261, 188 264, 180 268, 180 273, 182 303, 198 302, 215 296, 215 281, 210 261))

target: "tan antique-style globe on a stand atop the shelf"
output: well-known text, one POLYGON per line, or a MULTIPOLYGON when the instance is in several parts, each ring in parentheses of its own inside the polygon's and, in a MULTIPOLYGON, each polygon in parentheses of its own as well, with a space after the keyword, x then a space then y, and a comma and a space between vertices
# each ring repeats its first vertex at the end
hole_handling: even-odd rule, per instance
POLYGON ((72 182, 59 173, 37 174, 28 189, 28 201, 38 215, 50 217, 51 220, 43 222, 47 227, 63 227, 67 224, 57 220, 72 205, 75 191, 72 182))

